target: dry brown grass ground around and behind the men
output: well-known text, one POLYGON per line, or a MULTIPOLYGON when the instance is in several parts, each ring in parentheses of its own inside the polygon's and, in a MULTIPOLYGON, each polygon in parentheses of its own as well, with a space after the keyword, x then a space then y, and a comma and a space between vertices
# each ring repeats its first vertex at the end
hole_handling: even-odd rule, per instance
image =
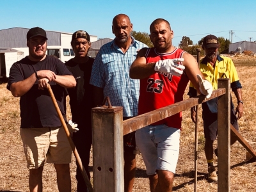
MULTIPOLYGON (((256 58, 234 58, 243 85, 244 115, 239 120, 240 132, 256 150, 256 58)), ((188 98, 184 95, 184 99, 188 98)), ((234 99, 234 95, 233 95, 234 99)), ((236 102, 235 102, 236 103, 236 102)), ((0 191, 28 191, 28 169, 19 134, 19 98, 12 97, 6 84, 0 85, 0 191)), ((202 113, 200 109, 200 114, 202 113)), ((68 116, 70 111, 68 110, 68 116)), ((194 144, 195 125, 190 111, 183 112, 180 137, 180 156, 173 191, 194 191, 194 144)), ((217 142, 214 143, 216 145, 217 142)), ((198 132, 198 191, 217 191, 217 184, 206 180, 207 163, 204 155, 202 119, 198 132)), ((246 150, 239 143, 231 147, 231 191, 255 191, 256 163, 246 161, 246 150)), ((134 191, 149 191, 145 165, 137 156, 138 168, 134 191)), ((214 162, 217 158, 214 157, 214 162)), ((92 166, 92 161, 90 163, 92 166)), ((92 171, 92 167, 90 168, 92 171)), ((72 191, 76 191, 76 164, 70 164, 72 191)), ((92 172, 91 172, 92 173, 92 172)), ((43 173, 44 191, 58 191, 56 172, 52 164, 46 164, 43 173)))

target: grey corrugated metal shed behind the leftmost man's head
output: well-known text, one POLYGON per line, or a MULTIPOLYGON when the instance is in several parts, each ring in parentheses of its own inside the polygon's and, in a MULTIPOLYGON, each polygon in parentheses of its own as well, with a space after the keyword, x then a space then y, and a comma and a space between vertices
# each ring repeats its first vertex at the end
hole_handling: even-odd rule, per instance
MULTIPOLYGON (((0 30, 0 47, 1 48, 18 48, 27 47, 28 28, 10 28, 0 30)), ((72 33, 67 33, 72 35, 72 33)), ((46 31, 47 45, 61 45, 61 32, 46 31)))

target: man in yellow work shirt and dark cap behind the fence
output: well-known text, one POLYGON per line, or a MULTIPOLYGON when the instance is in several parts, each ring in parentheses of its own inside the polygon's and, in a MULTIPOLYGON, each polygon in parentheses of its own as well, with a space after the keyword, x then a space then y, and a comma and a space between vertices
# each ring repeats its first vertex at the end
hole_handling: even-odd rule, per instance
MULTIPOLYGON (((205 51, 205 58, 200 61, 200 70, 205 79, 211 82, 213 90, 218 89, 219 78, 229 78, 230 87, 236 95, 237 107, 234 111, 234 104, 231 100, 231 113, 230 123, 237 129, 237 120, 243 115, 243 100, 242 100, 242 86, 237 76, 236 68, 230 58, 219 56, 218 48, 220 44, 218 38, 214 35, 207 35, 204 38, 202 48, 205 51), (237 116, 236 116, 237 115, 237 116)), ((190 97, 196 96, 196 90, 191 84, 188 95, 190 97)), ((205 156, 208 163, 208 180, 209 182, 217 182, 218 177, 215 167, 213 166, 213 141, 217 136, 217 98, 211 99, 202 104, 202 115, 204 120, 204 134, 205 134, 205 156)), ((195 122, 195 110, 191 108, 191 118, 195 122)), ((230 145, 236 142, 236 138, 230 138, 230 145)), ((216 156, 218 156, 218 148, 214 150, 216 156)))

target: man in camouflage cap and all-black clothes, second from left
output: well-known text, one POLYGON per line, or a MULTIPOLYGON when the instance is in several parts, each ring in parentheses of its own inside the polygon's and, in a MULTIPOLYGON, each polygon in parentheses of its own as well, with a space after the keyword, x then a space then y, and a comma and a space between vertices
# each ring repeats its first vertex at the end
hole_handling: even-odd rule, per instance
MULTIPOLYGON (((90 148, 92 145, 92 85, 90 77, 92 72, 93 58, 88 56, 88 50, 91 47, 90 36, 86 31, 79 30, 73 33, 71 46, 75 52, 75 57, 67 61, 68 70, 72 72, 76 78, 76 87, 68 90, 70 98, 70 108, 72 113, 72 121, 76 122, 79 132, 73 132, 72 139, 76 145, 77 152, 81 157, 88 178, 90 172, 88 164, 90 161, 90 148)), ((76 172, 77 191, 86 191, 86 184, 83 175, 77 166, 76 172)))

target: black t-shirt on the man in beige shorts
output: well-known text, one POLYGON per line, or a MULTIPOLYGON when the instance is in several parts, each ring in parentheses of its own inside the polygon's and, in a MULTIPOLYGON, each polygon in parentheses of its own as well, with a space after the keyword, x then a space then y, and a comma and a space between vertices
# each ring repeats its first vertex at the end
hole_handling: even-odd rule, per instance
MULTIPOLYGON (((38 70, 51 70, 56 75, 72 75, 67 67, 57 58, 46 56, 43 61, 31 61, 28 57, 13 63, 10 68, 10 77, 7 84, 10 85, 27 79, 38 70)), ((51 82, 52 92, 57 100, 60 111, 66 120, 64 109, 64 91, 60 85, 51 82)), ((60 118, 48 90, 38 90, 38 80, 32 88, 20 97, 20 118, 21 128, 30 127, 58 127, 61 125, 60 118)), ((67 120, 66 120, 67 121, 67 120)))

